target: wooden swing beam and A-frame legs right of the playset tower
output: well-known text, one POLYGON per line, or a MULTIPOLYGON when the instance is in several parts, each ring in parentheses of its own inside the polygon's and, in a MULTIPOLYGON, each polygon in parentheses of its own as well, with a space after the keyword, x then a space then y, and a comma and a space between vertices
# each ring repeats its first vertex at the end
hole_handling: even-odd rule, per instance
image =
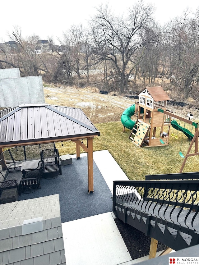
POLYGON ((195 127, 195 133, 194 133, 194 135, 193 136, 190 136, 190 138, 188 137, 191 140, 191 143, 189 145, 189 148, 187 150, 187 153, 186 153, 186 155, 184 157, 183 164, 182 164, 182 166, 180 168, 180 171, 179 171, 180 173, 182 173, 183 172, 183 168, 185 166, 185 163, 187 161, 187 158, 188 157, 191 157, 191 156, 199 155, 199 153, 198 153, 198 136, 199 136, 199 133, 198 133, 198 123, 197 122, 194 122, 194 121, 191 121, 191 120, 187 120, 187 119, 185 119, 183 117, 179 117, 178 115, 175 115, 175 114, 173 114, 173 113, 171 113, 169 111, 163 110, 163 109, 158 109, 158 111, 164 113, 165 115, 167 115, 167 117, 170 116, 170 117, 176 118, 176 119, 178 119, 180 121, 183 121, 183 122, 188 123, 188 124, 192 125, 193 127, 195 127), (192 149, 192 146, 193 146, 194 143, 195 143, 195 152, 194 153, 190 153, 191 152, 191 149, 192 149))

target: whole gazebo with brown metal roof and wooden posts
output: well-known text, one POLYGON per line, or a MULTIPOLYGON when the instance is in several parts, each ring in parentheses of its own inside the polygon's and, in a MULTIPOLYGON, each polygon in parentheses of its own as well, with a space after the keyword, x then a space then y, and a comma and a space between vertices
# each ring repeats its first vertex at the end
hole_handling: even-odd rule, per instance
POLYGON ((21 145, 72 141, 76 158, 80 146, 87 152, 88 193, 93 193, 93 138, 100 132, 81 109, 48 104, 28 104, 0 111, 0 153, 21 145), (87 146, 82 139, 87 139, 87 146))

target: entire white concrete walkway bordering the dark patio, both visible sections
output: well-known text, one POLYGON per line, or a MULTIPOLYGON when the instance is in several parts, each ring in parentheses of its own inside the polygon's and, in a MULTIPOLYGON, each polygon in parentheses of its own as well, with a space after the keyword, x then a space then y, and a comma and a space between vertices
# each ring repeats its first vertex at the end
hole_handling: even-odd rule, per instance
MULTIPOLYGON (((93 159, 112 194, 113 180, 128 180, 108 150, 94 152, 93 159)), ((113 212, 107 212, 62 223, 66 264, 132 265, 148 259, 132 260, 113 218, 113 212)))

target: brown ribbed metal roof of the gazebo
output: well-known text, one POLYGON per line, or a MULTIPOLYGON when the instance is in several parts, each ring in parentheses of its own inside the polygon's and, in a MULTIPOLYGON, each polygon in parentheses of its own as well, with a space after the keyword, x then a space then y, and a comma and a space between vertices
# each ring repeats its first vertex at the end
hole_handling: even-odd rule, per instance
POLYGON ((0 146, 100 134, 81 109, 31 104, 0 112, 0 117, 0 146))

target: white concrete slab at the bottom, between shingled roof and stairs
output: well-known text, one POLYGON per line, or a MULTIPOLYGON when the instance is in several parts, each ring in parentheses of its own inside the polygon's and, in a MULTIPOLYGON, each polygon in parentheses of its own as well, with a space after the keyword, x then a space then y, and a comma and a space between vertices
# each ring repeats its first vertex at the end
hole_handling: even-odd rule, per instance
POLYGON ((115 265, 132 258, 110 212, 62 224, 67 265, 115 265))

